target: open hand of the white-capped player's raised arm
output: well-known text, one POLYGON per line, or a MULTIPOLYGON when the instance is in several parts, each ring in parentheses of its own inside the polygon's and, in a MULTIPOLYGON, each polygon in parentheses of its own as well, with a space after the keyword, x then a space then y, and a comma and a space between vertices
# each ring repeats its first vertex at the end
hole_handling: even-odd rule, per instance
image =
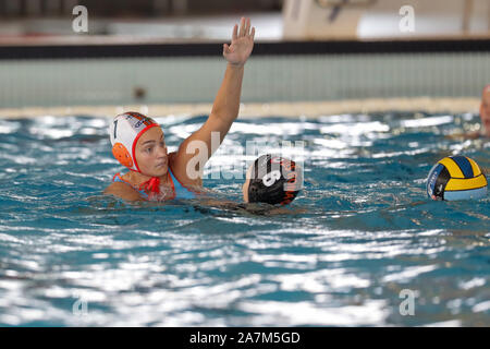
POLYGON ((242 17, 238 25, 233 27, 231 45, 223 44, 223 56, 233 65, 243 65, 254 48, 255 27, 250 32, 250 19, 242 17))

